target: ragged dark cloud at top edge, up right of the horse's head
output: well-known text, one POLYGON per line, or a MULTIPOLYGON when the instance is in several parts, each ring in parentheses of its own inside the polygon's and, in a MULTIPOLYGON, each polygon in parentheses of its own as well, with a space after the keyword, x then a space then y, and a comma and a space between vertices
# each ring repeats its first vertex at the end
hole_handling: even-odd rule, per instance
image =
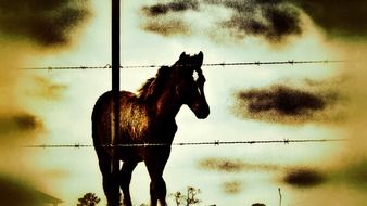
POLYGON ((220 27, 229 29, 237 38, 258 36, 270 42, 277 42, 289 35, 302 33, 299 10, 284 1, 207 0, 205 2, 233 11, 230 20, 223 21, 220 27))

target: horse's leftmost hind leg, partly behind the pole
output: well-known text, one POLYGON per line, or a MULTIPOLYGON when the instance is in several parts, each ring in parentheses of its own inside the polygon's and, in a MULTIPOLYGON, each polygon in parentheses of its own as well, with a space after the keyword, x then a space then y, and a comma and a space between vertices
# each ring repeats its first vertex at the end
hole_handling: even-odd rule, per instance
POLYGON ((118 181, 111 173, 111 156, 104 147, 96 147, 100 170, 102 172, 103 191, 107 198, 107 206, 119 206, 118 181), (116 192, 117 191, 117 192, 116 192))

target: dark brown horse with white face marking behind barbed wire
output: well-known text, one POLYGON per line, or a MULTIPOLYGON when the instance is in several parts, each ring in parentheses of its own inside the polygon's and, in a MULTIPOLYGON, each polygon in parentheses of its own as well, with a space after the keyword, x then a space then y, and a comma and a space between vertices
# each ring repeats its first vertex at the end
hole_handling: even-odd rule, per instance
POLYGON ((119 193, 113 192, 116 188, 123 191, 123 204, 132 205, 129 184, 131 172, 140 162, 145 164, 151 179, 151 205, 167 205, 162 175, 177 131, 175 117, 182 105, 188 105, 198 119, 210 114, 202 63, 202 52, 195 55, 182 52, 174 65, 159 68, 155 77, 148 79, 137 94, 119 92, 119 136, 115 138, 115 152, 111 146, 112 92, 105 92, 96 102, 92 138, 109 206, 119 205, 119 193), (111 173, 112 153, 123 162, 117 180, 111 173))

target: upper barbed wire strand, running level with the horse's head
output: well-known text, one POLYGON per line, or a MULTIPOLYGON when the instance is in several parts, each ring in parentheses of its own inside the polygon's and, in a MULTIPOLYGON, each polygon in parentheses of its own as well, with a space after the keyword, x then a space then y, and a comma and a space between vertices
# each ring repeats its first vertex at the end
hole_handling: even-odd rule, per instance
MULTIPOLYGON (((251 65, 282 65, 282 64, 329 64, 329 63, 345 63, 347 61, 343 60, 312 60, 312 61, 271 61, 271 62, 231 62, 231 63, 205 63, 202 64, 203 67, 214 67, 214 66, 251 66, 251 65)), ((126 65, 119 66, 121 68, 159 68, 167 65, 126 65)), ((47 66, 47 67, 22 67, 24 70, 77 70, 77 69, 111 69, 112 66, 106 64, 104 66, 47 66)))

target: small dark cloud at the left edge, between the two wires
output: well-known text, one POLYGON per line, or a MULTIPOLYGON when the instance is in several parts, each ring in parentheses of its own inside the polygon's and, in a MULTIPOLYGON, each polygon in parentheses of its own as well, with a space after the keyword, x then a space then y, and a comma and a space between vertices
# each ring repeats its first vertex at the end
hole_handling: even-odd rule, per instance
POLYGON ((0 116, 0 136, 31 132, 42 128, 42 121, 37 116, 28 113, 2 114, 0 116))

